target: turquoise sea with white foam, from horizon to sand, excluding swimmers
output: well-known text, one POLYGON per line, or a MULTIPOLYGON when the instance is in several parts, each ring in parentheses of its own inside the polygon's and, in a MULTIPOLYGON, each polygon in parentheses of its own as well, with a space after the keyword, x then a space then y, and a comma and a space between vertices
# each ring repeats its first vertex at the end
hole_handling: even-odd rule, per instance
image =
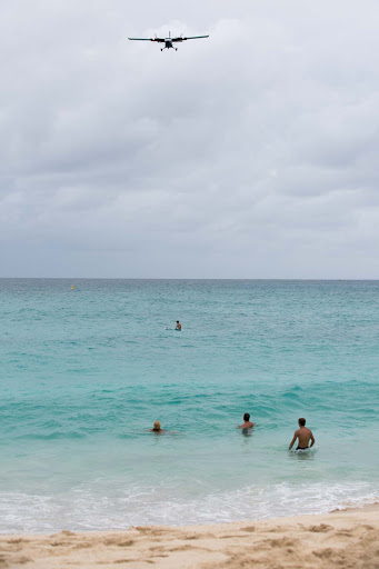
POLYGON ((379 498, 377 281, 2 279, 0 313, 0 532, 379 498))

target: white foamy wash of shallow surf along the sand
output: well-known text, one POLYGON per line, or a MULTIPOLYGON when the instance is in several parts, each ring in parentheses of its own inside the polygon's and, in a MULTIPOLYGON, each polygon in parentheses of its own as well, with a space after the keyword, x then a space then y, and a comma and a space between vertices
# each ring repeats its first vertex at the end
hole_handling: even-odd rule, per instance
POLYGON ((77 488, 64 495, 0 493, 0 532, 51 532, 126 529, 141 525, 196 525, 258 520, 283 516, 325 513, 361 507, 379 500, 379 488, 366 482, 280 483, 235 491, 218 491, 193 499, 172 493, 169 487, 110 489, 77 488))

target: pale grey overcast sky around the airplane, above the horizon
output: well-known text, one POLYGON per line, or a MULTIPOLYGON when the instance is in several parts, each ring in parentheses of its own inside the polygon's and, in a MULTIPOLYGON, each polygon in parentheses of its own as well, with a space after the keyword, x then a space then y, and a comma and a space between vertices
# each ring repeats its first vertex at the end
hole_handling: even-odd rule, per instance
POLYGON ((1 277, 379 278, 378 0, 0 7, 1 277))

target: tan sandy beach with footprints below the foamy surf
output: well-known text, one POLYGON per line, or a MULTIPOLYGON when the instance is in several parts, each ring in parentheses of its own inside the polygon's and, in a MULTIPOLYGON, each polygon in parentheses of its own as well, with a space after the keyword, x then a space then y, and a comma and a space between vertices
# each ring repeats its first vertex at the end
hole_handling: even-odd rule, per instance
POLYGON ((0 568, 379 569, 379 507, 325 516, 0 537, 0 568))

